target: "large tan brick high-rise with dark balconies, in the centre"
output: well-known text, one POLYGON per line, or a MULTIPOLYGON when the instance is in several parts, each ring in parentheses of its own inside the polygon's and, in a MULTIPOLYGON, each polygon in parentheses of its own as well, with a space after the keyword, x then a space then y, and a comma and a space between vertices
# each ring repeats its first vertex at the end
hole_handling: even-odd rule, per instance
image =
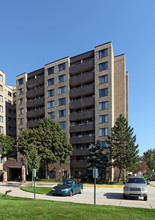
MULTIPOLYGON (((112 42, 18 75, 16 91, 17 135, 45 117, 60 123, 66 133, 74 147, 70 165, 63 167, 66 176, 70 171, 74 177, 86 175, 90 144, 99 140, 107 148, 116 118, 128 118, 125 55, 114 56, 112 42)), ((49 166, 49 177, 59 178, 59 172, 58 163, 49 166)))

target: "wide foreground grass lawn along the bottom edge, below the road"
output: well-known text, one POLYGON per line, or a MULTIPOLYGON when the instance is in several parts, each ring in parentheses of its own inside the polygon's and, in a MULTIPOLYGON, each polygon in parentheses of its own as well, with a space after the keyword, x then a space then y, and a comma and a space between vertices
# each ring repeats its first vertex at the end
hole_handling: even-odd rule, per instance
POLYGON ((155 219, 155 210, 115 206, 99 206, 33 200, 0 196, 0 219, 78 219, 78 220, 128 220, 155 219))

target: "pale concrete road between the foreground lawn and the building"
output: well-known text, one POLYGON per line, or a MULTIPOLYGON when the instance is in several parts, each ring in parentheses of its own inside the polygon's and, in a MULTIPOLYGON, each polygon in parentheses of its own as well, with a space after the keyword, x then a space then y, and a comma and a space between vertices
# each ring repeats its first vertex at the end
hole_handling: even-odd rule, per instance
MULTIPOLYGON (((5 193, 6 190, 12 190, 9 193, 10 196, 34 198, 33 193, 24 192, 17 186, 0 186, 0 193, 5 193)), ((72 197, 36 194, 36 199, 94 204, 94 188, 84 187, 82 194, 72 197)), ((155 187, 148 188, 148 201, 138 199, 124 200, 122 188, 97 187, 96 204, 155 209, 155 187)))

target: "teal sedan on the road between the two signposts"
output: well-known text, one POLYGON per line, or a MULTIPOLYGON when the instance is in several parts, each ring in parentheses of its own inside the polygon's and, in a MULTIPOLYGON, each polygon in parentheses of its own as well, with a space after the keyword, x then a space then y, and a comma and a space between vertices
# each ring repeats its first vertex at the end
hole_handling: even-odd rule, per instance
POLYGON ((53 187, 51 193, 53 195, 72 196, 77 193, 82 193, 83 184, 76 179, 64 180, 62 183, 53 187))

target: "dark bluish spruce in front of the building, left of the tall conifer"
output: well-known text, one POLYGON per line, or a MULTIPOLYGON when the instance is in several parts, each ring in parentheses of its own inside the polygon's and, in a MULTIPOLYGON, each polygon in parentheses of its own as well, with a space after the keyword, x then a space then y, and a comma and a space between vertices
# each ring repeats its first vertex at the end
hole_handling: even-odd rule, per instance
POLYGON ((97 141, 96 145, 91 145, 89 152, 90 154, 87 157, 87 168, 91 171, 91 175, 93 168, 96 167, 98 168, 100 178, 105 178, 108 157, 107 154, 103 154, 101 142, 97 141))

